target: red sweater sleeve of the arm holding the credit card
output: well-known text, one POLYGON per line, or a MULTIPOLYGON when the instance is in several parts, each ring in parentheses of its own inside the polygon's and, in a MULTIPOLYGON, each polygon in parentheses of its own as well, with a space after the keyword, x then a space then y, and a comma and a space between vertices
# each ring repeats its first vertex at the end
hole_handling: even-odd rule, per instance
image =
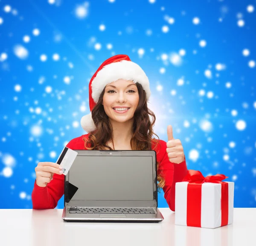
MULTIPOLYGON (((76 146, 77 138, 72 139, 67 145, 67 148, 74 149, 76 146)), ((38 186, 36 179, 34 188, 31 194, 32 208, 33 209, 49 209, 55 208, 58 200, 64 194, 64 174, 53 174, 51 182, 47 183, 45 187, 38 186)))

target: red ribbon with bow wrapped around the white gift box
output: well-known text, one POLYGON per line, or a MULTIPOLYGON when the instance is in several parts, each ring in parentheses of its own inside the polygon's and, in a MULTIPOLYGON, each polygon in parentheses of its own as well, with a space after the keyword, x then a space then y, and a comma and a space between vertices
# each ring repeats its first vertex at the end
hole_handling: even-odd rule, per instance
POLYGON ((204 182, 221 184, 221 226, 228 223, 228 183, 224 174, 204 177, 200 171, 188 170, 183 181, 189 182, 187 188, 187 226, 201 227, 201 197, 204 182))

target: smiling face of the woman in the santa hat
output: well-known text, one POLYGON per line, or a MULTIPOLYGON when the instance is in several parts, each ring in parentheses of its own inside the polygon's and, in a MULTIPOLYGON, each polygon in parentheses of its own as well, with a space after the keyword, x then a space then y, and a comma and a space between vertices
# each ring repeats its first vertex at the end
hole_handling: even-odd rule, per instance
POLYGON ((108 117, 116 122, 132 119, 139 104, 136 84, 131 80, 119 79, 105 88, 102 104, 108 117))

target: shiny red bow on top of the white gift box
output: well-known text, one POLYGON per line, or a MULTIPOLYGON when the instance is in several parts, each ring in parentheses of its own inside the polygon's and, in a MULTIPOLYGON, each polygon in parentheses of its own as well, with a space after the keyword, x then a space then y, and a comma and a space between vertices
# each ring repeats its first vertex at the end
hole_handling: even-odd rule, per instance
POLYGON ((209 183, 222 183, 223 179, 227 179, 224 174, 216 174, 204 177, 200 171, 188 170, 188 174, 183 178, 182 182, 188 181, 189 183, 202 184, 204 182, 209 183))

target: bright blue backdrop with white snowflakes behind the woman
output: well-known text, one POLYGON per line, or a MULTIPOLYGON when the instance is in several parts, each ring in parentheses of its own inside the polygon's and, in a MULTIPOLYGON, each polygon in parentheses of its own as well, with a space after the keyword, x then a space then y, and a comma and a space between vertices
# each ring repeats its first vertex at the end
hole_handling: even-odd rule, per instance
MULTIPOLYGON (((234 206, 255 207, 256 11, 248 5, 256 1, 0 0, 0 208, 32 208, 35 167, 56 162, 67 142, 86 134, 90 78, 116 54, 147 74, 160 139, 167 142, 172 124, 188 168, 225 174, 235 182, 234 206)), ((163 191, 159 206, 168 207, 163 191)))

